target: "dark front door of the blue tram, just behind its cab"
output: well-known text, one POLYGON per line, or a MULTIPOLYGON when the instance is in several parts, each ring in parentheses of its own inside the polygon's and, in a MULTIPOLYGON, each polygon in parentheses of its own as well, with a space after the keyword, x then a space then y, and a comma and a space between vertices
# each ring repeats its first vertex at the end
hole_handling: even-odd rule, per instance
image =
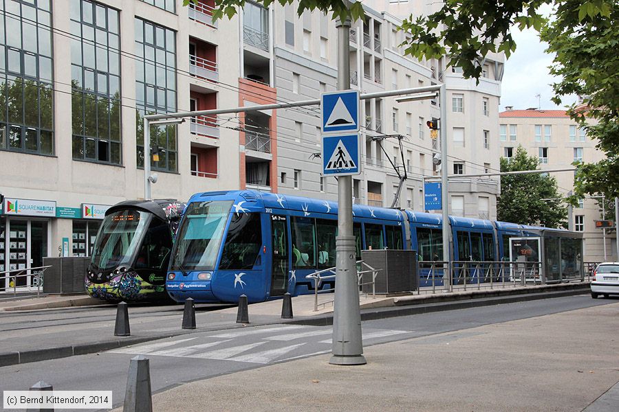
POLYGON ((281 296, 288 286, 288 231, 286 216, 271 216, 271 296, 281 296))

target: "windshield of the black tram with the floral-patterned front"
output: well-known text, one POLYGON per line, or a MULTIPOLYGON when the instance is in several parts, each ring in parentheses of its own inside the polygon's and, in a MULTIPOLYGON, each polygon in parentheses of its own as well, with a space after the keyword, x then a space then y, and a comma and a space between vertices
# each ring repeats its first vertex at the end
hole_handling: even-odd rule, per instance
POLYGON ((119 210, 105 216, 91 263, 100 271, 111 271, 120 264, 131 264, 151 218, 151 214, 138 210, 119 210))

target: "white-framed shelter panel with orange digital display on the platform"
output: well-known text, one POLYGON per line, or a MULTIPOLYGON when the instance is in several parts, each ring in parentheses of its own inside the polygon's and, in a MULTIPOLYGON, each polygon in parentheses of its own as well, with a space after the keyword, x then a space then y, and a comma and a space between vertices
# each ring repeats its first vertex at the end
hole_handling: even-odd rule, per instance
POLYGON ((541 282, 540 238, 510 238, 510 261, 516 262, 510 268, 512 280, 541 282))

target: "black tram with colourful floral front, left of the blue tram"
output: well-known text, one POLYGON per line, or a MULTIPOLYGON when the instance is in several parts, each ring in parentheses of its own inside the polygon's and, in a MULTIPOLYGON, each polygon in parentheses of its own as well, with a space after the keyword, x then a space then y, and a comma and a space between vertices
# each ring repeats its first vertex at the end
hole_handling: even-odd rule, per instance
POLYGON ((169 299, 166 270, 184 206, 165 199, 110 207, 95 240, 86 292, 110 302, 169 299))

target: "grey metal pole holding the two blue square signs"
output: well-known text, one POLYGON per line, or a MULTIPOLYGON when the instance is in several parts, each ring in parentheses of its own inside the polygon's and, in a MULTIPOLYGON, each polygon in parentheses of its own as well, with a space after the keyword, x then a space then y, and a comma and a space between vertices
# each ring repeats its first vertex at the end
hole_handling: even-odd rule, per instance
MULTIPOLYGON (((338 28, 338 90, 350 89, 350 20, 338 28)), ((338 237, 333 312, 332 365, 365 365, 352 220, 352 176, 338 177, 338 237)))

